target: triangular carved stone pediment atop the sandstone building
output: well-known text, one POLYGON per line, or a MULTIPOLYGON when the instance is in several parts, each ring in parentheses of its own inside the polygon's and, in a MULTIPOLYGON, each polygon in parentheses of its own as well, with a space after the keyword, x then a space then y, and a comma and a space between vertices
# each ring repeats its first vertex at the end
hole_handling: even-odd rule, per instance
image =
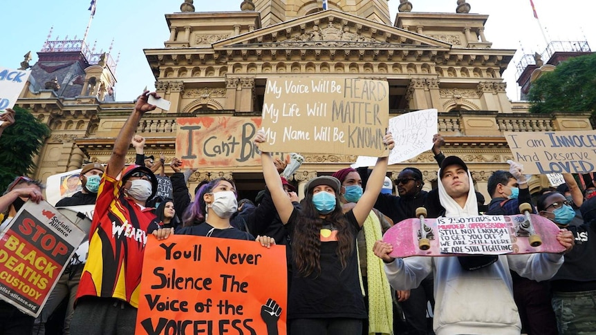
POLYGON ((451 44, 337 10, 325 10, 213 44, 236 48, 443 48, 451 44))

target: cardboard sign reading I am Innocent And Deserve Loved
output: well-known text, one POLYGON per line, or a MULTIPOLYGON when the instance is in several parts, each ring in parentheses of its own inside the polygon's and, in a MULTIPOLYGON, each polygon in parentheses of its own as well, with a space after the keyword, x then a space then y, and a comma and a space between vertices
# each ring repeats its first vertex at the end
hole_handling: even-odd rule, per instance
POLYGON ((523 172, 588 173, 596 166, 596 131, 505 132, 523 172))

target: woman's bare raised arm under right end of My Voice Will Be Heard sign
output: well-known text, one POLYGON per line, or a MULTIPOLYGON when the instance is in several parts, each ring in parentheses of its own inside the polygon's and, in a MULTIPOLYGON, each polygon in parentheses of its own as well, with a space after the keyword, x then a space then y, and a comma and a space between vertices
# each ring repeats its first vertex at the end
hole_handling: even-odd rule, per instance
MULTIPOLYGON (((391 136, 391 134, 385 135, 383 137, 383 144, 385 144, 389 151, 391 151, 395 145, 393 136, 391 136)), ((366 183, 366 190, 353 209, 354 216, 360 226, 364 224, 364 220, 369 216, 371 209, 373 209, 373 206, 377 201, 379 193, 381 193, 385 175, 387 175, 387 162, 389 162, 389 157, 379 157, 377 159, 375 169, 373 169, 369 181, 366 183)))

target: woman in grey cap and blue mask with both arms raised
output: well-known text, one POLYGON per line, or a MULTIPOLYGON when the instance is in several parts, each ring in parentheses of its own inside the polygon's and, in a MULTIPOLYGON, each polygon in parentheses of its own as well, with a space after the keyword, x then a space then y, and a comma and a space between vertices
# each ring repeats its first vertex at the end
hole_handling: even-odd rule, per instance
MULTIPOLYGON (((254 142, 265 142, 259 131, 254 142)), ((393 148, 393 137, 383 143, 393 148)), ((273 164, 262 152, 263 176, 292 239, 292 286, 288 298, 288 320, 292 335, 360 335, 367 317, 360 290, 356 236, 377 199, 387 173, 387 157, 379 158, 369 185, 351 211, 345 214, 339 202, 341 183, 321 176, 306 184, 302 209, 295 209, 273 164)))

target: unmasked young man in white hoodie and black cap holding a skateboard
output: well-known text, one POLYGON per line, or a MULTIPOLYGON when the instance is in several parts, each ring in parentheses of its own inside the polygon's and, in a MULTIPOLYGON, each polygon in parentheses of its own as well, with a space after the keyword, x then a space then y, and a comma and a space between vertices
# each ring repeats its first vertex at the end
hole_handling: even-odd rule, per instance
MULTIPOLYGON (((438 198, 446 217, 478 215, 472 175, 463 160, 445 158, 438 180, 438 198)), ((566 229, 559 231, 557 240, 566 250, 573 246, 573 236, 566 229)), ((552 253, 396 259, 389 256, 391 251, 389 243, 375 242, 375 255, 386 263, 385 274, 393 288, 418 287, 423 278, 434 273, 436 335, 519 335, 521 321, 510 269, 526 278, 548 280, 563 264, 563 255, 552 253)))

